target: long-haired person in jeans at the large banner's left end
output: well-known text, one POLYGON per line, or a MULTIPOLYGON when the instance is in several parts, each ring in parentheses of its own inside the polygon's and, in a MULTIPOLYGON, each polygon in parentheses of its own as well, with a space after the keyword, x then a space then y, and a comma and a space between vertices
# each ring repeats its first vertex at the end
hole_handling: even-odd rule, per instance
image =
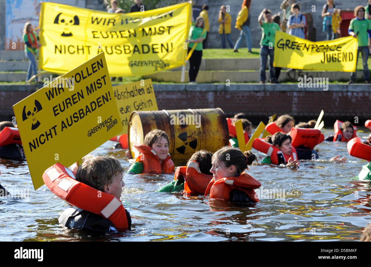
POLYGON ((39 36, 33 31, 33 26, 30 22, 24 24, 23 33, 22 38, 24 41, 24 53, 30 60, 30 65, 28 66, 27 70, 27 82, 32 76, 32 69, 35 75, 37 74, 36 54, 37 49, 41 46, 41 44, 37 42, 39 41, 39 36))

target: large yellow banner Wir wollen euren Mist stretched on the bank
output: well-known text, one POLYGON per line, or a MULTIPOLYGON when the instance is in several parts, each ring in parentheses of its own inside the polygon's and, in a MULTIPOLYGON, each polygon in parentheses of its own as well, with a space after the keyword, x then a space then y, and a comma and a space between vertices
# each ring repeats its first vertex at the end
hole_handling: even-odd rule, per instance
POLYGON ((191 3, 113 14, 42 3, 39 67, 66 73, 105 53, 110 76, 142 76, 184 64, 191 3))

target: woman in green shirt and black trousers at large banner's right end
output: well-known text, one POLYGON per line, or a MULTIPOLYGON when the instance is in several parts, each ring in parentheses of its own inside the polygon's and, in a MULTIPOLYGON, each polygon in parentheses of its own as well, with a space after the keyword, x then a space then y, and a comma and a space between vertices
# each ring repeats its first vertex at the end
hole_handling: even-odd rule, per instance
POLYGON ((190 59, 189 59, 189 83, 194 84, 196 83, 196 77, 198 73, 198 69, 200 69, 201 59, 202 59, 202 42, 206 39, 206 29, 205 29, 205 22, 202 17, 197 17, 196 23, 191 26, 189 30, 188 39, 185 42, 189 42, 188 44, 188 53, 191 51, 192 47, 196 44, 196 48, 194 49, 190 59))

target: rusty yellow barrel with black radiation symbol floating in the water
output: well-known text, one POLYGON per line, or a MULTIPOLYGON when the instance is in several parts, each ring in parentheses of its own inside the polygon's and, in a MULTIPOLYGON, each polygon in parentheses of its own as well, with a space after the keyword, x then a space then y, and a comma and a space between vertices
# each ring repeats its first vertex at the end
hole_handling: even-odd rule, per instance
POLYGON ((200 149, 215 152, 229 144, 227 120, 220 108, 134 111, 128 124, 133 158, 139 155, 134 144, 144 144, 144 136, 152 129, 167 133, 172 159, 188 159, 200 149))

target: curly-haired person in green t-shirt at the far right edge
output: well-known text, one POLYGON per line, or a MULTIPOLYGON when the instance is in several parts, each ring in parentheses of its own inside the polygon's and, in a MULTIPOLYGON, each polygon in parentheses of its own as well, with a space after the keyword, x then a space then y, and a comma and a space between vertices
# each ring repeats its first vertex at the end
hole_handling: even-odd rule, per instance
MULTIPOLYGON (((365 19, 365 8, 363 6, 357 6, 354 9, 354 19, 350 21, 348 33, 349 35, 357 38, 358 41, 358 50, 357 50, 357 63, 359 53, 362 53, 362 63, 363 63, 363 75, 365 83, 370 83, 368 71, 367 59, 368 59, 368 50, 370 46, 370 36, 371 36, 371 22, 368 19, 365 19)), ((357 70, 352 72, 350 75, 349 83, 355 82, 357 70)))

